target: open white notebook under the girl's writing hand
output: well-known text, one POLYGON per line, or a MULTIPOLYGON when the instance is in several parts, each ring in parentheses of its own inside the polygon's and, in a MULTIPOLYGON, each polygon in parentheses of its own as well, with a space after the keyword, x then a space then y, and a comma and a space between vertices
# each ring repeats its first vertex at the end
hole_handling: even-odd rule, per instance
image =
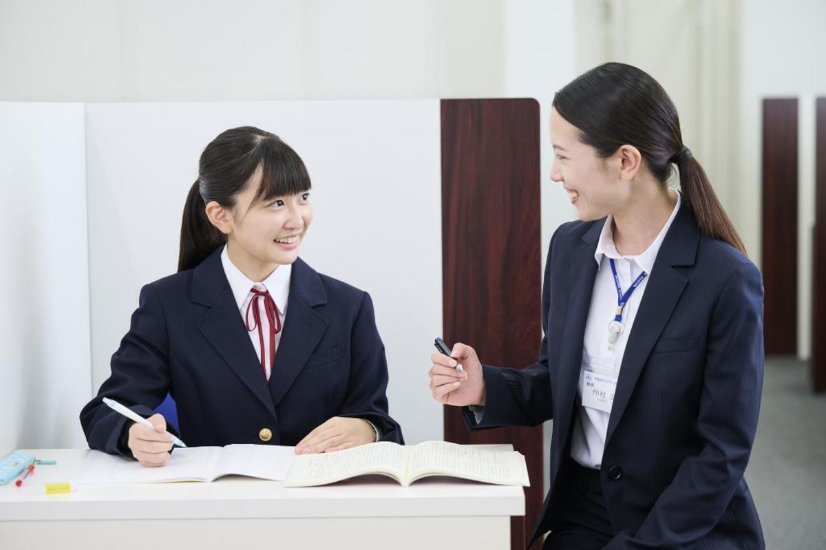
POLYGON ((89 451, 78 483, 155 483, 213 481, 239 475, 280 481, 295 456, 293 447, 234 444, 226 447, 176 448, 163 467, 141 466, 135 460, 89 451))

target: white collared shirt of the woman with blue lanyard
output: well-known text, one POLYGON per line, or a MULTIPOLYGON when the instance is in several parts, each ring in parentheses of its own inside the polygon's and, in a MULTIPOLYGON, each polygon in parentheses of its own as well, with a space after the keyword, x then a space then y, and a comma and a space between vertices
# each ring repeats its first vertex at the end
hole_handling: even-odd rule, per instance
MULTIPOLYGON (((596 244, 594 259, 599 266, 594 280, 594 291, 591 295, 591 309, 588 311, 588 320, 585 325, 585 340, 582 346, 582 367, 580 369, 579 382, 577 383, 577 395, 582 400, 582 378, 586 367, 599 364, 602 367, 608 366, 613 369, 608 374, 619 377, 619 367, 625 353, 625 345, 628 344, 628 337, 634 326, 634 320, 639 310, 639 304, 643 300, 645 288, 648 287, 648 279, 654 268, 654 261, 662 245, 662 240, 671 227, 676 213, 680 211, 682 198, 677 192, 677 201, 674 210, 669 216, 666 224, 662 226, 657 238, 653 240, 648 249, 642 254, 635 256, 623 256, 617 252, 614 244, 614 233, 611 225, 612 216, 608 216, 605 225, 602 226, 600 240, 596 244), (608 343, 608 324, 614 319, 617 309, 617 290, 614 276, 611 273, 609 258, 614 259, 614 263, 619 277, 619 286, 622 292, 626 292, 634 280, 643 271, 648 276, 639 283, 634 293, 629 297, 622 315, 624 329, 619 334, 613 348, 608 343)), ((605 437, 608 433, 608 420, 610 414, 590 407, 580 405, 577 416, 574 420, 573 434, 571 440, 571 458, 579 462, 584 467, 599 468, 602 463, 602 453, 605 449, 605 437)))

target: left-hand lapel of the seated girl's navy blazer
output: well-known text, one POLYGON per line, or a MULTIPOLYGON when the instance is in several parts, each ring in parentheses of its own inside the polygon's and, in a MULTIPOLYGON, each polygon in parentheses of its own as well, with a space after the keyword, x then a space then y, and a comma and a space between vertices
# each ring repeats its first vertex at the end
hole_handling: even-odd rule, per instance
POLYGON ((244 320, 221 265, 221 249, 195 268, 190 299, 210 308, 198 323, 198 330, 249 391, 275 415, 261 363, 249 341, 244 320))

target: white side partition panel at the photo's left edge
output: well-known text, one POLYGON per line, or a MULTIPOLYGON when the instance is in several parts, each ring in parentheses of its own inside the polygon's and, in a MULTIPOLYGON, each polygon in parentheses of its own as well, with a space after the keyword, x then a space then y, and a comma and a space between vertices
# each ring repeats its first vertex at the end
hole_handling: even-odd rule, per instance
POLYGON ((85 446, 91 396, 83 105, 0 103, 0 456, 85 446))

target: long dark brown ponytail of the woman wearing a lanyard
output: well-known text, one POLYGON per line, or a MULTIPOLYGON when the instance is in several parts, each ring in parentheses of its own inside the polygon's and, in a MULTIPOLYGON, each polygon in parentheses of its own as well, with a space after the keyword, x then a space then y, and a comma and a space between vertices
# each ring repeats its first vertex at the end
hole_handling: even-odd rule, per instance
POLYGON ((746 247, 740 239, 737 230, 725 213, 723 205, 717 198, 717 193, 711 187, 709 177, 705 175, 705 170, 697 159, 691 154, 691 150, 683 146, 673 157, 672 162, 680 173, 680 187, 683 197, 686 198, 688 206, 694 212, 697 225, 705 235, 720 239, 731 244, 743 254, 746 254, 746 247))

